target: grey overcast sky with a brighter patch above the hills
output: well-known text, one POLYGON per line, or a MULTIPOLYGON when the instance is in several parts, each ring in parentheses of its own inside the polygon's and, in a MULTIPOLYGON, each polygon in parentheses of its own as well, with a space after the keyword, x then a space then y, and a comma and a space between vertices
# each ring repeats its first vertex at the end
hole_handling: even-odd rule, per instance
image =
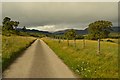
POLYGON ((57 31, 85 29, 96 20, 118 25, 117 2, 3 2, 2 17, 20 22, 19 27, 57 31))

